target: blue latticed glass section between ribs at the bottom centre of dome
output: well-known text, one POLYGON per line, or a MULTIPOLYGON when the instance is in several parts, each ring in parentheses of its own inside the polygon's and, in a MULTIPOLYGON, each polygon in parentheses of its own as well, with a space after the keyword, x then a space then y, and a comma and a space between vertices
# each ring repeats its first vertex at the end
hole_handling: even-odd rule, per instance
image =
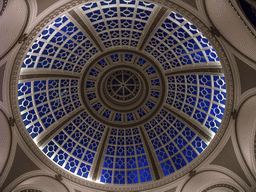
POLYGON ((100 181, 135 184, 151 180, 147 155, 139 129, 137 127, 112 128, 100 181))

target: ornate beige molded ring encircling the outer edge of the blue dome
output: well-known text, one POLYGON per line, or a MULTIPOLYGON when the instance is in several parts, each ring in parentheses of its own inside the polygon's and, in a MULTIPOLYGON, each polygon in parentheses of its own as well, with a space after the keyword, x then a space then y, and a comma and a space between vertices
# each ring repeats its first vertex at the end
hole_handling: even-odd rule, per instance
MULTIPOLYGON (((153 0, 148 0, 148 1, 155 3, 155 1, 153 1, 153 0)), ((231 117, 231 111, 233 109, 233 102, 234 102, 234 99, 233 99, 234 86, 233 86, 232 71, 231 71, 229 61, 228 61, 228 57, 227 57, 224 49, 222 48, 220 42, 218 41, 218 39, 214 35, 211 34, 209 28, 200 19, 198 19, 191 12, 185 10, 183 7, 177 5, 176 3, 173 3, 173 2, 164 1, 164 2, 160 2, 160 3, 157 2, 157 3, 184 16, 186 19, 188 19, 190 22, 192 22, 207 37, 207 39, 210 41, 210 43, 212 44, 216 53, 219 56, 222 67, 224 69, 226 83, 227 83, 227 103, 226 103, 226 108, 225 108, 224 117, 222 119, 222 123, 219 127, 217 134, 215 135, 214 139, 212 140, 211 144, 200 155, 200 158, 197 158, 196 160, 194 160, 190 166, 187 166, 186 168, 182 169, 182 171, 178 171, 177 174, 166 176, 161 180, 154 181, 154 182, 148 182, 145 184, 140 184, 140 186, 131 185, 131 186, 127 187, 127 186, 120 185, 120 186, 113 187, 113 185, 108 185, 108 184, 102 185, 102 184, 97 184, 95 182, 90 182, 90 181, 80 179, 80 178, 70 174, 69 172, 63 170, 62 168, 56 166, 50 159, 48 159, 42 153, 42 151, 36 146, 36 144, 33 142, 31 137, 27 133, 27 131, 24 127, 24 123, 22 121, 20 112, 19 112, 19 105, 18 105, 18 101, 17 101, 17 82, 19 80, 19 71, 21 68, 21 63, 25 57, 25 54, 28 51, 29 46, 31 45, 33 40, 37 37, 38 33, 46 26, 46 24, 50 23, 57 16, 63 14, 64 12, 70 10, 71 8, 79 6, 86 2, 88 2, 88 1, 87 0, 74 0, 72 2, 64 4, 63 6, 57 8, 55 11, 51 12, 42 21, 40 21, 38 23, 38 25, 36 25, 36 27, 29 33, 28 39, 26 41, 24 41, 24 43, 20 47, 18 54, 15 58, 14 64, 13 64, 12 73, 11 73, 11 77, 10 77, 11 109, 12 109, 13 116, 15 118, 16 126, 17 126, 20 134, 22 135, 23 139, 26 141, 28 147, 34 152, 34 154, 43 163, 45 163, 45 165, 50 167, 53 171, 61 174, 65 178, 67 178, 73 182, 76 182, 78 184, 90 187, 90 188, 107 190, 107 191, 139 191, 139 190, 146 190, 146 189, 160 187, 160 186, 168 184, 174 180, 177 180, 178 178, 186 175, 191 170, 195 169, 198 165, 200 165, 211 154, 211 152, 215 149, 217 144, 220 142, 221 138, 223 137, 223 135, 227 129, 227 125, 228 125, 228 122, 231 117)))

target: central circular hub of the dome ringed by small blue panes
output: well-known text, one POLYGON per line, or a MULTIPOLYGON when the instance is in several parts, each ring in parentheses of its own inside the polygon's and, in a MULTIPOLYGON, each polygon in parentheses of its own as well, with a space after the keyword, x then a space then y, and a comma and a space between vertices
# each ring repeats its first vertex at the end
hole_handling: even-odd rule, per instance
MULTIPOLYGON (((81 90, 84 90, 82 100, 90 114, 100 122, 112 127, 138 126, 154 116, 164 102, 164 75, 159 66, 144 54, 127 49, 109 51, 92 61, 86 69, 81 83, 81 90), (113 88, 108 85, 119 73, 124 73, 127 78, 131 76, 134 83, 137 81, 132 93, 124 96, 126 100, 113 93, 113 88)), ((122 84, 120 79, 120 89, 122 84)))

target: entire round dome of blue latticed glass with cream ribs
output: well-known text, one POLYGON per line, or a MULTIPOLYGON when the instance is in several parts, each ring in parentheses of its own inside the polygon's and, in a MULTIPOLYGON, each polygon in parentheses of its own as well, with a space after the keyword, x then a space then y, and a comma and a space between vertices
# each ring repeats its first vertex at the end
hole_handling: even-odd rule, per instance
POLYGON ((191 165, 217 133, 226 82, 188 20, 134 0, 87 3, 36 37, 18 82, 24 127, 57 166, 140 184, 191 165))

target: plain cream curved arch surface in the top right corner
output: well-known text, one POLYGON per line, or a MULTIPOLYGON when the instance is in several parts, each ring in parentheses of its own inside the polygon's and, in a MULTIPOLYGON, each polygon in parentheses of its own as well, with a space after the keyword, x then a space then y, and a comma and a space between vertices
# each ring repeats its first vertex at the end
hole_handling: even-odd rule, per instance
POLYGON ((206 0, 205 7, 221 37, 247 57, 256 60, 256 39, 241 22, 228 0, 206 0))

